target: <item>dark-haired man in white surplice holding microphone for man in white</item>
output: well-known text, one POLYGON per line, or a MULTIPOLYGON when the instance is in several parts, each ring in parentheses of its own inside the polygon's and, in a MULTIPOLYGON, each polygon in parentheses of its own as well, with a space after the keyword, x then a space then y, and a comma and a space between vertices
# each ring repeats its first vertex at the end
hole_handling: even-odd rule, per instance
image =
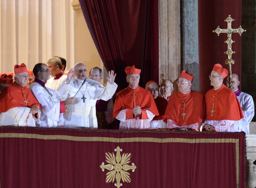
MULTIPOLYGON (((37 63, 33 73, 35 80, 29 89, 41 105, 40 127, 57 127, 59 122, 64 123, 64 118, 60 116, 60 113, 65 112, 65 104, 71 104, 74 98, 60 102, 56 91, 45 86, 45 82, 49 79, 51 73, 46 64, 37 63)), ((63 123, 60 125, 63 125, 63 123)))

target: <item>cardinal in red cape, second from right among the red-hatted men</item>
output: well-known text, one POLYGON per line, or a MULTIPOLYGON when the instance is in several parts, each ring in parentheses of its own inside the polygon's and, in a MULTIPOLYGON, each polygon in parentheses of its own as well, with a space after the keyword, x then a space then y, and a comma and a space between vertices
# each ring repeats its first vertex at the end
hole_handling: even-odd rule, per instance
POLYGON ((170 96, 164 119, 171 131, 200 131, 205 117, 202 93, 191 90, 193 75, 183 70, 177 81, 178 93, 170 96))

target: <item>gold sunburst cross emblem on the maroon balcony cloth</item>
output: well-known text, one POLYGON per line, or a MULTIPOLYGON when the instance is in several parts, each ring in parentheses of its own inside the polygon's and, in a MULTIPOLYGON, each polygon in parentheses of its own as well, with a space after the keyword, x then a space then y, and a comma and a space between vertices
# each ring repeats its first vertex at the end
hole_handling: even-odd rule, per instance
POLYGON ((106 183, 109 183, 111 181, 113 183, 116 179, 115 186, 118 188, 122 186, 122 183, 120 183, 121 178, 123 182, 131 182, 130 173, 126 171, 132 170, 132 172, 134 172, 136 169, 134 163, 132 163, 132 165, 128 165, 128 163, 131 162, 130 159, 132 154, 123 153, 121 157, 120 151, 122 151, 122 149, 117 146, 117 148, 115 149, 116 156, 114 155, 114 153, 106 152, 106 162, 110 164, 105 165, 104 163, 102 163, 102 165, 100 165, 102 171, 104 171, 104 169, 110 170, 110 172, 106 174, 106 183))

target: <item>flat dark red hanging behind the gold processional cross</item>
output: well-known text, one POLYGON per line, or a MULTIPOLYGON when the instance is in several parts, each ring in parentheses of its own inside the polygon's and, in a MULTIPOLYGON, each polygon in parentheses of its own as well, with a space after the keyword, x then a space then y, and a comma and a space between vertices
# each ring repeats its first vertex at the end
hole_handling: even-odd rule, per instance
MULTIPOLYGON (((228 56, 224 54, 227 51, 227 34, 221 33, 218 36, 213 33, 218 26, 221 29, 227 28, 226 18, 231 15, 235 19, 232 22, 232 28, 238 28, 242 22, 241 0, 198 0, 198 45, 199 45, 199 89, 205 94, 210 86, 209 75, 214 64, 220 63, 228 69, 225 60, 228 56)), ((246 29, 246 28, 244 28, 246 29)), ((243 35, 246 33, 243 33, 243 35)), ((232 73, 236 73, 241 78, 241 36, 238 33, 232 34, 232 50, 236 53, 232 55, 235 64, 232 65, 232 73)), ((226 79, 224 79, 226 84, 226 79)), ((240 86, 239 86, 240 87, 240 86)))

